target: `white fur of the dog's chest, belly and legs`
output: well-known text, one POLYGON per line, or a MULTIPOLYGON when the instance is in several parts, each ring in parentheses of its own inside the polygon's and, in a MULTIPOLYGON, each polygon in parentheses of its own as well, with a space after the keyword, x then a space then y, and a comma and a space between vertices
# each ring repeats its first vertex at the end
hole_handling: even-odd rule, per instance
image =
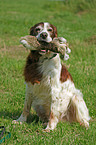
POLYGON ((42 113, 44 109, 49 113, 53 113, 54 117, 50 118, 49 116, 49 122, 46 127, 46 130, 53 130, 65 116, 70 121, 68 109, 70 105, 73 105, 77 121, 88 127, 90 117, 82 93, 75 88, 71 80, 61 83, 61 61, 59 55, 57 54, 53 59, 49 59, 51 55, 52 53, 45 54, 40 59, 39 69, 43 72, 43 79, 40 84, 32 85, 31 83, 26 83, 24 111, 17 121, 27 120, 32 105, 37 113, 38 107, 42 113), (48 57, 48 59, 43 57, 48 57))

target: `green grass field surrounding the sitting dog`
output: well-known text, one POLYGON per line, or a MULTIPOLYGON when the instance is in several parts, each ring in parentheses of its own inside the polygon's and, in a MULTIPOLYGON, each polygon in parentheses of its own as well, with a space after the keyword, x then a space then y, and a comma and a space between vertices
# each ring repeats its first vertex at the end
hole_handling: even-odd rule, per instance
MULTIPOLYGON (((95 0, 3 0, 0 1, 0 125, 11 132, 6 145, 90 145, 96 144, 96 1, 95 0), (23 67, 28 55, 20 44, 21 36, 40 21, 48 21, 65 37, 72 49, 65 62, 75 85, 84 94, 89 108, 88 130, 78 123, 62 123, 42 132, 42 122, 31 110, 27 123, 12 124, 24 105, 23 67), (33 114, 33 115, 32 115, 33 114)), ((2 143, 3 144, 3 143, 2 143)))

